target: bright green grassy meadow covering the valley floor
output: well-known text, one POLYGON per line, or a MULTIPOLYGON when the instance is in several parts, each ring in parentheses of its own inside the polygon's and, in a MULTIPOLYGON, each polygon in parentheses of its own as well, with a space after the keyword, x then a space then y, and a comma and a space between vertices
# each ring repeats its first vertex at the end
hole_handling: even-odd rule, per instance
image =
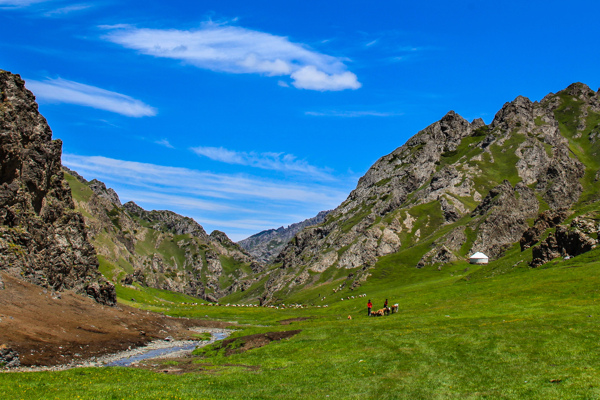
POLYGON ((384 257, 358 290, 334 293, 341 281, 332 280, 291 299, 314 304, 304 309, 193 306, 193 298, 143 289, 132 302, 120 289, 137 307, 232 321, 232 338, 301 332, 230 356, 198 351, 201 370, 182 375, 119 367, 9 373, 0 390, 6 399, 600 398, 599 256, 595 249, 532 269, 512 251, 488 266, 441 270, 384 257), (377 309, 385 298, 399 313, 368 318, 367 300, 377 309), (299 317, 307 319, 279 323, 299 317))

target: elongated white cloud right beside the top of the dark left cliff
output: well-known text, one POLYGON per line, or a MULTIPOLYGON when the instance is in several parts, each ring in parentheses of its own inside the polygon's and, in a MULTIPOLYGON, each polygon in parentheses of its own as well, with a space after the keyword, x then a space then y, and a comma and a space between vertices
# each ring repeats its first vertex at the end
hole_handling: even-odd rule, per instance
POLYGON ((157 112, 155 108, 124 94, 60 78, 27 80, 26 86, 38 99, 49 102, 77 104, 128 117, 151 117, 157 112))

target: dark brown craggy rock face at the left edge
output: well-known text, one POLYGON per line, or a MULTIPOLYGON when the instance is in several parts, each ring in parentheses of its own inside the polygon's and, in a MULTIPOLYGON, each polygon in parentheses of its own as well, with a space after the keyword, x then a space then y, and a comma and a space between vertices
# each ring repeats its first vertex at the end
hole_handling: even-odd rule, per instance
POLYGON ((96 299, 114 304, 63 179, 62 142, 18 75, 0 71, 0 93, 0 269, 57 291, 99 285, 96 299))

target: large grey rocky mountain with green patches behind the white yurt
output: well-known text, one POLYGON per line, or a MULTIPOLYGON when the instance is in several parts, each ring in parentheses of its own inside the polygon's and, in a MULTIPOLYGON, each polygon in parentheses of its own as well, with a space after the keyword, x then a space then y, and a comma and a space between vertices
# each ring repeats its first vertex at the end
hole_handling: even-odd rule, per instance
POLYGON ((420 252, 418 268, 475 251, 498 259, 542 211, 598 204, 599 168, 600 96, 584 84, 540 102, 519 96, 489 125, 451 111, 379 159, 322 224, 290 241, 264 300, 310 287, 325 271, 358 286, 379 258, 409 248, 420 252))

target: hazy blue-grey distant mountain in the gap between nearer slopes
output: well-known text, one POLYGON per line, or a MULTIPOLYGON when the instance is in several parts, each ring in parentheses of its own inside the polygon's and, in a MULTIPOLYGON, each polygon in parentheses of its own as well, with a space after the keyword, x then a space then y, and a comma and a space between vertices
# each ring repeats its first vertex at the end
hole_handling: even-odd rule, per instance
POLYGON ((308 226, 318 225, 325 221, 325 217, 330 212, 331 210, 321 211, 316 216, 289 225, 287 228, 282 226, 277 229, 268 229, 237 243, 259 262, 270 264, 298 232, 308 226))

